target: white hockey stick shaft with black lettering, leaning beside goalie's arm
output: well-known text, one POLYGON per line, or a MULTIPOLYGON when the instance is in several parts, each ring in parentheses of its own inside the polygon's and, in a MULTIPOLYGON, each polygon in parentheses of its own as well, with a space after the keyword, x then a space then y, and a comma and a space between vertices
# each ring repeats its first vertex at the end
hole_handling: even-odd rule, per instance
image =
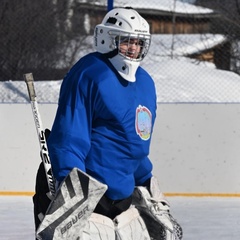
POLYGON ((43 165, 44 165, 44 169, 47 177, 47 183, 49 188, 49 193, 47 195, 49 199, 52 200, 55 195, 55 182, 52 174, 52 166, 49 158, 46 136, 42 126, 40 113, 38 110, 38 102, 37 102, 37 97, 36 97, 36 92, 34 87, 33 74, 26 73, 23 75, 23 77, 28 88, 29 99, 31 102, 31 107, 33 112, 33 118, 34 118, 35 126, 37 129, 37 134, 38 134, 38 139, 40 144, 40 154, 41 154, 41 158, 43 161, 43 165))

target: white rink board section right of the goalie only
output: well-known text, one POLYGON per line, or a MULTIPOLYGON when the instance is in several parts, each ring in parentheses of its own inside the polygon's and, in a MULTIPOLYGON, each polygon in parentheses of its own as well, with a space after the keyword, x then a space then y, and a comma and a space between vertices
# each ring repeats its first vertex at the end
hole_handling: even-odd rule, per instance
POLYGON ((151 158, 162 191, 240 192, 240 104, 158 105, 151 158))

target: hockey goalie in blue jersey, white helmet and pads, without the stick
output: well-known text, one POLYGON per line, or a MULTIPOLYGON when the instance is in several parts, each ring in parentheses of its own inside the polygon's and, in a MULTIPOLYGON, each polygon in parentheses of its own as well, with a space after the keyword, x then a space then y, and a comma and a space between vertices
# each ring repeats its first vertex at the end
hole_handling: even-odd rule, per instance
POLYGON ((47 197, 40 165, 38 239, 182 239, 148 157, 157 101, 140 63, 150 42, 138 12, 113 9, 95 27, 96 52, 64 77, 47 140, 57 192, 47 197))

